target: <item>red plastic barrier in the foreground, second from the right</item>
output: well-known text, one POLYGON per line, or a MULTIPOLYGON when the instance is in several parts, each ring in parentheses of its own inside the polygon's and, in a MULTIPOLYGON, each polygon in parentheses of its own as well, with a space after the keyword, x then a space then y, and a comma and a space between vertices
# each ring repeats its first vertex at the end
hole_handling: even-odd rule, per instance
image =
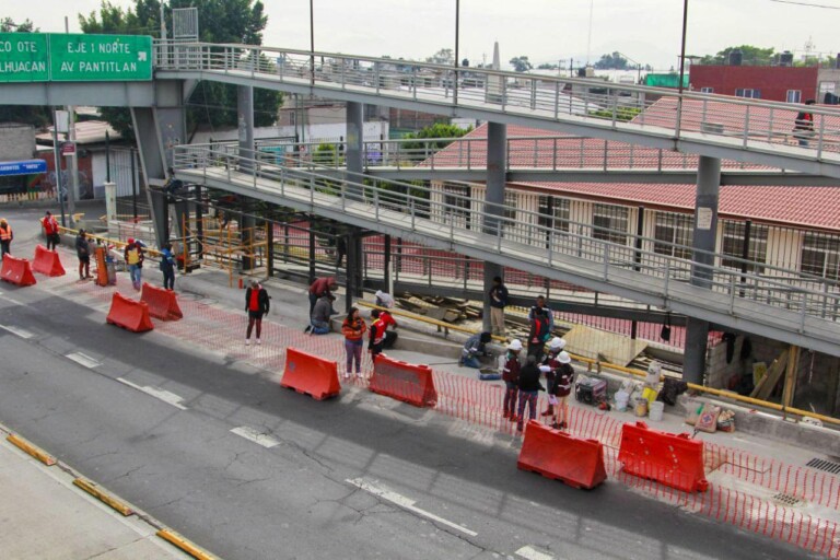
POLYGON ((528 422, 516 466, 587 490, 607 479, 600 442, 573 438, 536 420, 528 422))

